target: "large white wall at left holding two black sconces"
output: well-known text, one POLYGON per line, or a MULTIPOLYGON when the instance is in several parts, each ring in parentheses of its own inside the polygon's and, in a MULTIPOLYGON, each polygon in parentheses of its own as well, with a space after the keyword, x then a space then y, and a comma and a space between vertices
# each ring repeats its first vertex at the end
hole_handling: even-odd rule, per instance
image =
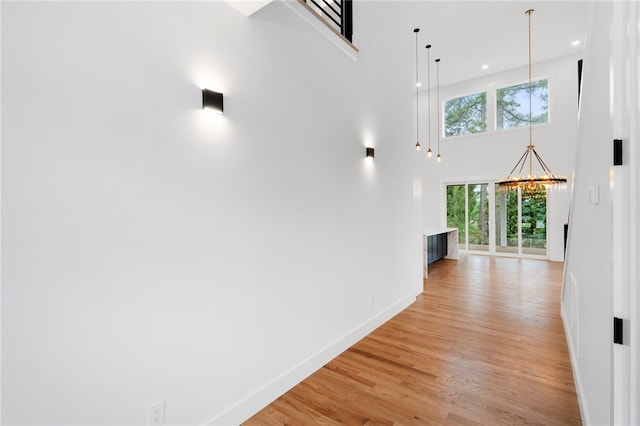
POLYGON ((5 424, 238 423, 414 300, 391 6, 354 61, 280 2, 2 3, 5 424))

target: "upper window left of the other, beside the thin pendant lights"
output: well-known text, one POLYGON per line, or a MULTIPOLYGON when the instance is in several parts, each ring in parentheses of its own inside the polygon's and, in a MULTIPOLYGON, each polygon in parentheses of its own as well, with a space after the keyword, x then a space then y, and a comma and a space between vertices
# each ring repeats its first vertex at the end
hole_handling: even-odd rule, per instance
POLYGON ((448 99, 444 102, 444 136, 487 131, 487 92, 448 99))

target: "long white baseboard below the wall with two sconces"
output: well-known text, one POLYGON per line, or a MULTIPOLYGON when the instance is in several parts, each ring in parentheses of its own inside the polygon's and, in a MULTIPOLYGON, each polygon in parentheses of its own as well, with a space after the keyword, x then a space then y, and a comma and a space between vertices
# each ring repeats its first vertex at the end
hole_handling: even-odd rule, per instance
POLYGON ((383 310, 343 337, 327 345, 324 349, 301 361, 291 369, 258 388, 246 398, 238 401, 210 420, 209 426, 235 426, 249 419, 255 413, 276 400, 289 389, 309 377, 323 365, 353 346, 363 337, 400 313, 416 300, 416 295, 407 296, 383 310))

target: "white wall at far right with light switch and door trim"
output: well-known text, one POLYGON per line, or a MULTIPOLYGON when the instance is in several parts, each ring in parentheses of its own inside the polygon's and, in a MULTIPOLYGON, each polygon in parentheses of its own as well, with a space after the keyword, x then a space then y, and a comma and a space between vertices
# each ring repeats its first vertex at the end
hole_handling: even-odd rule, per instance
POLYGON ((638 40, 634 2, 593 2, 585 47, 583 96, 562 314, 587 425, 638 424, 638 40), (622 139, 624 165, 612 164, 622 139), (589 187, 600 202, 589 202, 589 187), (612 317, 630 333, 614 345, 612 317))

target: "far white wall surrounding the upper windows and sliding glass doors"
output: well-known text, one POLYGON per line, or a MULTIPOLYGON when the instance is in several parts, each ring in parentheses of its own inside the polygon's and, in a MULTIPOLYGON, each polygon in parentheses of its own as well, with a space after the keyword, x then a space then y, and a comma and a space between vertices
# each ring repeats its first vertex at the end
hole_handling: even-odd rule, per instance
MULTIPOLYGON (((526 48, 526 45, 525 45, 526 48)), ((549 117, 548 125, 533 127, 533 143, 536 151, 556 175, 564 175, 571 184, 571 172, 574 166, 574 152, 577 141, 577 61, 581 54, 534 63, 532 78, 549 80, 549 117)), ((440 74, 447 72, 446 58, 443 56, 440 74)), ((431 68, 432 75, 435 73, 431 68)), ((465 135, 453 138, 441 138, 441 163, 435 159, 423 160, 423 222, 425 227, 446 225, 445 186, 452 182, 491 181, 505 177, 516 161, 524 153, 528 141, 528 128, 496 131, 495 116, 491 105, 495 103, 495 90, 513 84, 526 82, 527 67, 488 75, 484 78, 469 80, 440 88, 440 99, 487 92, 489 104, 488 131, 482 134, 465 135)), ((423 92, 421 105, 427 105, 428 94, 423 92)), ((421 117, 421 126, 425 134, 428 130, 426 108, 421 117)), ((431 95, 431 146, 437 148, 437 95, 432 85, 431 95)), ((423 138, 426 141, 426 137, 423 138)), ((426 146, 426 142, 423 142, 426 146)), ((547 250, 551 260, 564 260, 564 224, 568 218, 569 192, 552 192, 548 197, 547 211, 547 250)))

